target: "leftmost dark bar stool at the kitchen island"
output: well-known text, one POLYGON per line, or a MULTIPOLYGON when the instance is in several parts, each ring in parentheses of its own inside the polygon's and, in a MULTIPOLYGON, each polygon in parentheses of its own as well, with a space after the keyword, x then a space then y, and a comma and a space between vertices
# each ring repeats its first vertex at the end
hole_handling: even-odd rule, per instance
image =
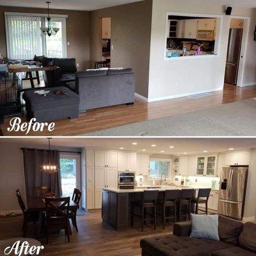
POLYGON ((132 227, 134 226, 134 216, 141 218, 141 231, 144 230, 144 222, 151 220, 154 222, 154 229, 156 230, 156 202, 158 196, 158 190, 148 190, 143 192, 140 201, 136 201, 132 207, 132 227), (136 210, 139 210, 139 213, 136 213, 136 210), (147 212, 147 209, 152 209, 153 213, 147 212), (147 218, 147 215, 151 218, 147 218))

